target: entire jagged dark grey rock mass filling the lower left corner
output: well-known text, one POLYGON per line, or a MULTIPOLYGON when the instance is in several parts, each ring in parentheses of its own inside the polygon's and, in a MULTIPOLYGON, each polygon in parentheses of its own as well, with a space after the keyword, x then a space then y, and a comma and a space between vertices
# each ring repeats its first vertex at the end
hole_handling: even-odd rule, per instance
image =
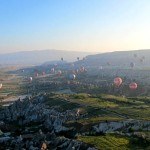
POLYGON ((75 120, 76 113, 49 108, 44 104, 45 96, 19 99, 0 112, 1 149, 94 149, 83 142, 59 135, 60 132, 72 130, 64 123, 75 120))

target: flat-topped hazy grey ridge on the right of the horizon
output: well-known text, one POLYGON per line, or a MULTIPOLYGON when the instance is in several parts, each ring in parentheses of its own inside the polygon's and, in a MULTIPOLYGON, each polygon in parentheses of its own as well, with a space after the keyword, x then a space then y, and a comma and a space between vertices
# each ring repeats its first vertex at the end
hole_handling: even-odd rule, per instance
MULTIPOLYGON (((87 66, 129 66, 130 63, 136 66, 150 67, 150 50, 115 51, 86 57, 84 64, 87 66)), ((81 62, 83 63, 83 62, 81 62)))

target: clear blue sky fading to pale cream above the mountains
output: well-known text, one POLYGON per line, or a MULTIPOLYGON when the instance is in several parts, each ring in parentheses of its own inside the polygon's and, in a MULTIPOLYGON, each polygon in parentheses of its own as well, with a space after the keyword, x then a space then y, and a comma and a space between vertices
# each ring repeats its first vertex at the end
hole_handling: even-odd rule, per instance
POLYGON ((150 49, 150 0, 0 0, 0 53, 150 49))

